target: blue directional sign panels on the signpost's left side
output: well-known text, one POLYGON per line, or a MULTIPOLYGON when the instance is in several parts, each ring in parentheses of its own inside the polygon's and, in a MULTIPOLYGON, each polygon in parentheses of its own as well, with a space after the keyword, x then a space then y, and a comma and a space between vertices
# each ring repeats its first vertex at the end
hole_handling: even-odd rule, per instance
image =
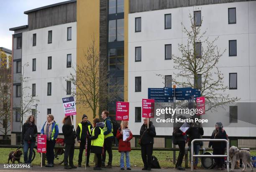
POLYGON ((173 102, 171 96, 165 96, 164 88, 148 88, 148 99, 154 99, 155 102, 173 102))

